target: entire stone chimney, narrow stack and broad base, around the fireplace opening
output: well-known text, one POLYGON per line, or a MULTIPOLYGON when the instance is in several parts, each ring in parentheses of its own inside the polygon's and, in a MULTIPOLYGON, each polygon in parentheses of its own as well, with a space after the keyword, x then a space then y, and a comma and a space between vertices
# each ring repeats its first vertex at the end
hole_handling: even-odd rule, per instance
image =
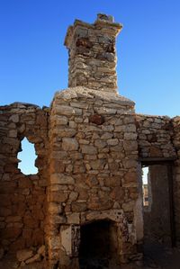
POLYGON ((50 109, 47 225, 50 264, 63 268, 78 268, 79 229, 95 220, 116 224, 119 262, 136 253, 138 144, 134 103, 116 92, 119 31, 106 15, 67 31, 71 88, 50 109))

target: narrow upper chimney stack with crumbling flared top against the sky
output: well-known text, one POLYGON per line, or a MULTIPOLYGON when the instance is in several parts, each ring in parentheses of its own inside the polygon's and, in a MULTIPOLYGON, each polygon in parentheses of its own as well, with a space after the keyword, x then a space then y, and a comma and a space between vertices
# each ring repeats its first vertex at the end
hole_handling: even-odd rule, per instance
POLYGON ((65 45, 69 50, 69 87, 81 85, 116 93, 115 38, 121 28, 105 14, 98 14, 94 24, 76 20, 68 28, 65 45))

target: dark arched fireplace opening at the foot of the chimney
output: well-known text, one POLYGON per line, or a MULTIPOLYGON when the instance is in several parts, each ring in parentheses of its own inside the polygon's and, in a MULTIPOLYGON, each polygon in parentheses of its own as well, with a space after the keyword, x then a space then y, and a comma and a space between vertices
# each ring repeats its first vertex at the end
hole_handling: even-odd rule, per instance
POLYGON ((80 269, 110 269, 117 266, 118 239, 115 223, 110 220, 94 221, 83 225, 80 233, 80 269))

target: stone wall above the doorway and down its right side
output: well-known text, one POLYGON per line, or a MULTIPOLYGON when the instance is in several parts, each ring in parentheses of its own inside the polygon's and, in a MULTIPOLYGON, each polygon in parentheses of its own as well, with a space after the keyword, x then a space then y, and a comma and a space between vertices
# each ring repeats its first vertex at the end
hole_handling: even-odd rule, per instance
POLYGON ((175 243, 180 245, 180 117, 136 114, 139 158, 172 159, 175 243))

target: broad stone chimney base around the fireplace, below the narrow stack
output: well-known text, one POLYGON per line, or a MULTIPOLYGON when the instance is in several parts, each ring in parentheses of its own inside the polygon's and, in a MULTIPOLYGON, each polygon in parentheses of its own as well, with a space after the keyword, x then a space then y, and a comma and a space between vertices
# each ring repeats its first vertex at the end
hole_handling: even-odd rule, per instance
POLYGON ((73 244, 78 249, 78 241, 72 240, 74 227, 94 220, 117 223, 121 260, 136 252, 138 144, 133 106, 117 94, 84 87, 55 95, 49 121, 51 264, 76 268, 68 267, 75 266, 73 258, 78 256, 73 252, 73 244))

